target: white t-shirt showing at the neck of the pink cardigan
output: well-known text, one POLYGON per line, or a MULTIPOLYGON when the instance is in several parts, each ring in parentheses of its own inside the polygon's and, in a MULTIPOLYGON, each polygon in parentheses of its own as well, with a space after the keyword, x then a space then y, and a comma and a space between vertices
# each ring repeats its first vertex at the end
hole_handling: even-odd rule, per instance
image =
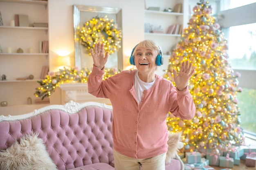
POLYGON ((135 92, 136 92, 138 103, 140 103, 143 91, 148 90, 150 87, 153 86, 154 83, 155 83, 155 80, 150 83, 143 82, 139 78, 138 71, 136 72, 134 86, 135 86, 135 92))

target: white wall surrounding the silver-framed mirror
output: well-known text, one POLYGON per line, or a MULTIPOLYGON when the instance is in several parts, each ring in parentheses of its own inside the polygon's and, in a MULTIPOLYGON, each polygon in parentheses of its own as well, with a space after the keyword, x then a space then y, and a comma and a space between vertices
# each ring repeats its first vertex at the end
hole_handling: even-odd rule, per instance
MULTIPOLYGON (((133 47, 144 40, 144 0, 48 0, 49 10, 49 69, 58 71, 58 51, 66 50, 74 67, 73 5, 118 7, 122 9, 123 68, 130 65, 133 47)), ((51 104, 61 103, 56 89, 51 104)))

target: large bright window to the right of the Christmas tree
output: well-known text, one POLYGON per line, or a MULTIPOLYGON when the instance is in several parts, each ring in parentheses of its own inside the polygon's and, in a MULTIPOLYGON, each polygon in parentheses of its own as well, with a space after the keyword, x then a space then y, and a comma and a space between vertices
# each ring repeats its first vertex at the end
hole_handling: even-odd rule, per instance
POLYGON ((256 139, 256 0, 220 0, 217 16, 228 40, 229 61, 238 78, 241 127, 256 139))

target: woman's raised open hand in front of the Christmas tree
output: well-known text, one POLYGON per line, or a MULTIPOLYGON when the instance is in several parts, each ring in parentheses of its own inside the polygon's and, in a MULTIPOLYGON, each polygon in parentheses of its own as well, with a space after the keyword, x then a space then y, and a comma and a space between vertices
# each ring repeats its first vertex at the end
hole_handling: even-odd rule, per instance
POLYGON ((189 61, 182 62, 180 73, 177 75, 177 71, 173 69, 173 79, 176 87, 179 91, 183 91, 189 83, 189 79, 195 73, 195 69, 192 69, 192 63, 189 61))

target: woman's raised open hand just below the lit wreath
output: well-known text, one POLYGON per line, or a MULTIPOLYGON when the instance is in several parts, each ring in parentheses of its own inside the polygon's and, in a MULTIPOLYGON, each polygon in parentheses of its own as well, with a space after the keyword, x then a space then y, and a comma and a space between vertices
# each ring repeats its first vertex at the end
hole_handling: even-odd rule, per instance
POLYGON ((93 52, 93 49, 90 49, 90 52, 92 54, 94 66, 102 70, 106 62, 108 61, 108 51, 106 52, 106 55, 105 55, 104 44, 103 43, 101 44, 100 42, 98 42, 97 44, 95 44, 94 52, 93 52))

